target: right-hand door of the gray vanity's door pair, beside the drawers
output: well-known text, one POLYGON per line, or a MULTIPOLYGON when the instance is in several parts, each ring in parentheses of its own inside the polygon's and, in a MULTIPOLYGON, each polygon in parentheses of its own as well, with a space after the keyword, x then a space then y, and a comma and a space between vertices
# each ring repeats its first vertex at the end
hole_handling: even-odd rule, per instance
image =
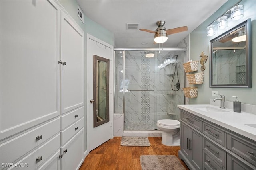
POLYGON ((203 137, 193 129, 190 129, 191 154, 190 162, 197 170, 203 169, 203 137))

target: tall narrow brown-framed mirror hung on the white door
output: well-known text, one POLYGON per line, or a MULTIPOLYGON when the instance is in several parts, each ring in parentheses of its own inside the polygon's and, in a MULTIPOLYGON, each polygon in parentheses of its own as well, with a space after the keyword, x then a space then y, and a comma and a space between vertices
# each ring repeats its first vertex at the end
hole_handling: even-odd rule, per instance
POLYGON ((94 55, 93 127, 109 121, 109 59, 94 55))

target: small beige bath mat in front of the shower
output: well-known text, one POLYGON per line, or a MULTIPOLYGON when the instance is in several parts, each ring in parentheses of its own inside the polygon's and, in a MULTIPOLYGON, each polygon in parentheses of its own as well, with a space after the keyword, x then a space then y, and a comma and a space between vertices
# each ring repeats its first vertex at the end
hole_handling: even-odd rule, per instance
POLYGON ((127 137, 123 136, 121 140, 121 146, 130 147, 149 147, 150 143, 148 137, 127 137))

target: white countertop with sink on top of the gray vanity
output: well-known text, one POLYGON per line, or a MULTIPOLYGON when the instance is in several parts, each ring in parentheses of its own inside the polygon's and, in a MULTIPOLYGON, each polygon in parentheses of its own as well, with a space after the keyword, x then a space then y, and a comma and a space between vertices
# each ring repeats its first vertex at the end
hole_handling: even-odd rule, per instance
POLYGON ((178 105, 178 108, 188 111, 193 115, 206 119, 212 123, 220 125, 230 131, 234 131, 240 135, 248 137, 256 141, 256 128, 250 127, 245 124, 256 124, 256 115, 246 112, 237 113, 233 109, 223 109, 226 112, 214 112, 214 111, 201 111, 194 107, 213 107, 221 110, 218 106, 210 104, 188 104, 178 105))

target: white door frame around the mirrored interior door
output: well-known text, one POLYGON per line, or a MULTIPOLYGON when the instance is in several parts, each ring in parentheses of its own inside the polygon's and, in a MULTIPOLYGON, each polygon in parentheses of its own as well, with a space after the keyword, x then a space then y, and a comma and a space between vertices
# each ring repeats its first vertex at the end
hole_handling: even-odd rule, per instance
POLYGON ((92 74, 92 71, 88 70, 89 66, 88 66, 88 62, 87 62, 87 57, 89 56, 89 40, 93 40, 96 41, 102 45, 105 45, 107 47, 109 47, 111 49, 111 59, 110 59, 110 67, 109 67, 109 72, 110 72, 110 76, 109 76, 109 86, 110 86, 110 91, 109 91, 109 121, 110 121, 110 126, 111 126, 111 139, 113 139, 114 137, 114 130, 113 130, 113 117, 114 117, 114 47, 90 34, 86 34, 86 141, 87 141, 87 150, 89 149, 89 136, 88 136, 88 113, 89 113, 89 109, 88 109, 88 105, 91 104, 90 103, 90 96, 88 94, 89 86, 87 86, 88 84, 88 75, 92 74))

